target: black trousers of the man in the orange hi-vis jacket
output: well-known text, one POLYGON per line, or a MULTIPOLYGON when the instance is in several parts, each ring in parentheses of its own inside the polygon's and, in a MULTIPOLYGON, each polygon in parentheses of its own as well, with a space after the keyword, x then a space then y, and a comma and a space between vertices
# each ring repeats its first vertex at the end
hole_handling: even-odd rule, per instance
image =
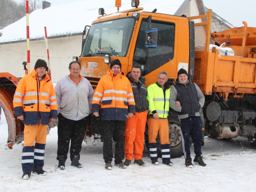
POLYGON ((103 159, 111 163, 113 158, 112 140, 115 141, 115 164, 122 163, 124 159, 124 130, 125 121, 101 121, 103 137, 103 159))

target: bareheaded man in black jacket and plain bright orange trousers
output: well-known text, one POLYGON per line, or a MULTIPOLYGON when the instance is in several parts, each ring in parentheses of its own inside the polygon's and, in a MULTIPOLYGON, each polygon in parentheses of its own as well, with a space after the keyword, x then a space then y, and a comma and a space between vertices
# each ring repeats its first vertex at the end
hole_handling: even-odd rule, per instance
POLYGON ((125 122, 124 153, 126 166, 129 166, 134 158, 134 163, 146 166, 142 161, 144 147, 144 132, 146 117, 148 114, 148 100, 146 99, 145 78, 141 76, 140 68, 134 66, 132 71, 126 75, 130 80, 135 100, 136 114, 125 122), (135 151, 135 154, 133 154, 135 151))

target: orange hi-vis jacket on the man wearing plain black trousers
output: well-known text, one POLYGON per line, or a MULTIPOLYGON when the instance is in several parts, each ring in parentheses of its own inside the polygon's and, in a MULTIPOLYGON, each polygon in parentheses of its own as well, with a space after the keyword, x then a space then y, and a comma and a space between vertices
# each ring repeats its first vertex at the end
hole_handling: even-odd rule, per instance
POLYGON ((109 70, 98 83, 92 100, 92 112, 98 112, 101 120, 126 121, 128 113, 135 114, 135 101, 131 83, 123 72, 116 76, 109 70))

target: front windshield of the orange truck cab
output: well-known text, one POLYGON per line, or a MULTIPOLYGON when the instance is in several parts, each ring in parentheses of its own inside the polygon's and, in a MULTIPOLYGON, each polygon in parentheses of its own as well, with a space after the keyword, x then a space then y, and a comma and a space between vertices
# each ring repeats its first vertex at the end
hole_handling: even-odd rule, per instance
POLYGON ((84 44, 82 57, 111 56, 124 57, 130 44, 134 18, 122 18, 93 24, 84 44))

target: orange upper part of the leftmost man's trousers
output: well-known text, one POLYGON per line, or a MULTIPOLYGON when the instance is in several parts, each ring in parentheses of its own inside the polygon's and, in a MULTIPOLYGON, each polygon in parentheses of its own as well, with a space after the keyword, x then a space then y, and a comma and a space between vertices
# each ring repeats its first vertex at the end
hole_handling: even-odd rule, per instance
POLYGON ((35 142, 46 144, 47 125, 26 125, 24 127, 24 146, 34 146, 35 142))

